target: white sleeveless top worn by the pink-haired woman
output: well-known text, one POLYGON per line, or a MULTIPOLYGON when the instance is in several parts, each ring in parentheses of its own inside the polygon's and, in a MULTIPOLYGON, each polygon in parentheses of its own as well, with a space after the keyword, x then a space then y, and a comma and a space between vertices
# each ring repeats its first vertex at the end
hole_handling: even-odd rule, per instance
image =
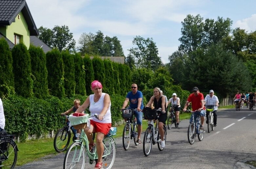
MULTIPOLYGON (((101 110, 104 107, 104 96, 106 93, 102 93, 100 96, 100 99, 97 102, 94 102, 94 94, 91 94, 89 96, 89 100, 90 100, 90 107, 89 107, 89 111, 91 113, 91 115, 94 115, 95 113, 100 114, 101 110)), ((104 115, 104 119, 103 120, 99 120, 96 117, 92 117, 92 120, 95 122, 99 122, 99 123, 111 123, 111 112, 110 112, 110 107, 111 107, 111 101, 107 110, 107 113, 104 115)))

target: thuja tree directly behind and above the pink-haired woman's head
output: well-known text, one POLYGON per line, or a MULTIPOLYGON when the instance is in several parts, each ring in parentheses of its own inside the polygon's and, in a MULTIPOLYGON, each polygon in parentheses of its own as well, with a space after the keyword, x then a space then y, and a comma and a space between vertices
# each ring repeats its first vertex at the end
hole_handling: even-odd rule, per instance
MULTIPOLYGON (((105 88, 105 68, 103 60, 99 57, 93 57, 92 66, 94 71, 94 80, 98 80, 99 82, 101 82, 103 88, 105 88)), ((103 91, 105 91, 105 89, 103 89, 103 91)))

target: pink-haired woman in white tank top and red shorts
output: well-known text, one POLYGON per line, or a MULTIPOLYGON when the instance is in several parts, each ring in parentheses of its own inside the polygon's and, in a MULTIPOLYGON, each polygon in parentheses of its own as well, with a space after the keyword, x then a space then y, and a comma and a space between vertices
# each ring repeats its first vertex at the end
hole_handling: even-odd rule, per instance
POLYGON ((96 132, 96 150, 98 154, 98 161, 94 169, 102 168, 102 156, 104 152, 103 138, 108 134, 111 127, 111 112, 110 112, 110 97, 107 93, 102 93, 102 84, 94 80, 91 82, 91 90, 94 94, 89 95, 86 101, 80 106, 76 112, 83 112, 89 107, 90 115, 98 114, 98 119, 92 117, 90 120, 90 127, 84 129, 88 140, 90 150, 94 146, 94 141, 92 140, 93 132, 96 132))

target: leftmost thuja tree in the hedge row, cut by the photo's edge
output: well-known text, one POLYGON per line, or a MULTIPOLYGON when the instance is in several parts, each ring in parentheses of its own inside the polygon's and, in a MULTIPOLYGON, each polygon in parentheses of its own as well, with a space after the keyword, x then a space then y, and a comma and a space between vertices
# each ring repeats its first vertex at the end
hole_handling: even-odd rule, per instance
POLYGON ((10 48, 4 38, 0 38, 0 75, 0 97, 8 97, 14 93, 14 77, 10 48))

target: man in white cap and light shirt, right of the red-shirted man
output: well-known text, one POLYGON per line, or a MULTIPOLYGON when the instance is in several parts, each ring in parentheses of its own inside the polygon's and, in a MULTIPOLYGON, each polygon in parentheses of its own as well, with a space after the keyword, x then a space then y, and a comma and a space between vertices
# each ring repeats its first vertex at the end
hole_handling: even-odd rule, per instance
MULTIPOLYGON (((217 126, 217 110, 218 110, 218 106, 219 106, 219 99, 217 96, 214 95, 214 91, 210 90, 210 94, 207 94, 205 97, 205 102, 206 102, 206 106, 208 105, 216 105, 213 107, 213 126, 216 127, 217 126)), ((206 111, 206 123, 208 124, 208 115, 209 115, 209 111, 206 111)))

